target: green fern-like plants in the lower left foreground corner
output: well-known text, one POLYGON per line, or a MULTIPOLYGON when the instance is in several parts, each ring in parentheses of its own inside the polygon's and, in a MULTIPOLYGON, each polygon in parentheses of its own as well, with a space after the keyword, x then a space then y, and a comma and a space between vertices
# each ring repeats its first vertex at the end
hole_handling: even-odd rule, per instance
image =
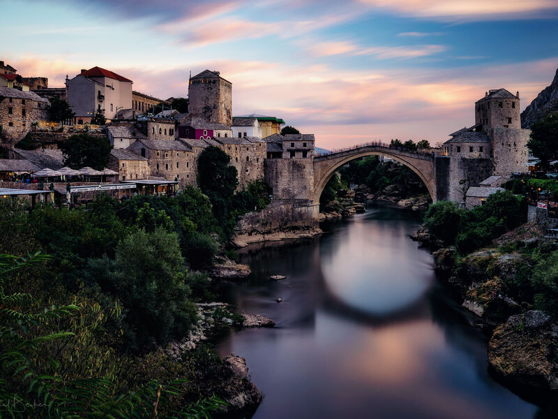
MULTIPOLYGON (((77 304, 37 309, 30 293, 7 293, 7 281, 48 256, 0 255, 0 419, 1 418, 209 418, 225 402, 217 397, 175 406, 185 381, 149 381, 133 392, 116 392, 114 378, 75 377, 63 365, 65 348, 90 339, 77 304), (61 329, 70 325, 73 331, 61 329), (45 350, 48 349, 48 350, 45 350)), ((89 307, 100 316, 98 304, 89 307)), ((94 325, 95 323, 93 323, 94 325)), ((71 354, 71 352, 70 352, 71 354)), ((107 351, 108 355, 112 355, 107 351)), ((91 369, 93 371, 93 369, 91 369)))

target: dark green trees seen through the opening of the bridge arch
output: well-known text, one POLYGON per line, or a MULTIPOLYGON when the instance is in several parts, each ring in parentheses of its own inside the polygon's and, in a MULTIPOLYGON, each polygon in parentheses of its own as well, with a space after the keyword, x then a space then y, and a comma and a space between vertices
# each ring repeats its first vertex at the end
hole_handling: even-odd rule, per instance
POLYGON ((342 182, 365 184, 372 193, 381 192, 389 185, 395 185, 402 198, 428 193, 422 180, 407 166, 392 160, 382 162, 378 156, 351 161, 339 172, 342 182))

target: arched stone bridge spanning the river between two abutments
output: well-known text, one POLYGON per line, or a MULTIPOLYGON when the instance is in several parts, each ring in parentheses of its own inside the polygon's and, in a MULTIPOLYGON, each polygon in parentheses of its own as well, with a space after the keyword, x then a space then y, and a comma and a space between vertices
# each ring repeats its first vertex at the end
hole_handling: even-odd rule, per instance
POLYGON ((434 154, 422 152, 409 152, 407 150, 389 148, 386 145, 363 145, 352 149, 324 154, 314 158, 314 200, 317 203, 319 196, 326 186, 329 178, 338 168, 349 161, 365 156, 386 156, 404 164, 422 179, 432 201, 436 199, 436 179, 434 170, 434 154))

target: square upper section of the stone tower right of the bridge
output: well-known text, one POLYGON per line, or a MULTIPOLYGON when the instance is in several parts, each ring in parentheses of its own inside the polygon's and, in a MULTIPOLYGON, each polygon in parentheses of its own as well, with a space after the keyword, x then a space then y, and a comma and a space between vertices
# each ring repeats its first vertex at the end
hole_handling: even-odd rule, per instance
POLYGON ((485 97, 475 103, 475 124, 490 128, 521 128, 521 112, 518 94, 506 89, 487 91, 485 97))

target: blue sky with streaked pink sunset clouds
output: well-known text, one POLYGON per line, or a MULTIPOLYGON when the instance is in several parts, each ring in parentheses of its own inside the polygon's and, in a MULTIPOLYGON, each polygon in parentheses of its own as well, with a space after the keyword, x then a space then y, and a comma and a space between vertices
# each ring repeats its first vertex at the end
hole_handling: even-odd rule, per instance
POLYGON ((525 109, 558 68, 558 0, 0 0, 0 59, 50 87, 100 66, 158 98, 220 71, 233 114, 335 149, 443 142, 488 89, 525 109))

